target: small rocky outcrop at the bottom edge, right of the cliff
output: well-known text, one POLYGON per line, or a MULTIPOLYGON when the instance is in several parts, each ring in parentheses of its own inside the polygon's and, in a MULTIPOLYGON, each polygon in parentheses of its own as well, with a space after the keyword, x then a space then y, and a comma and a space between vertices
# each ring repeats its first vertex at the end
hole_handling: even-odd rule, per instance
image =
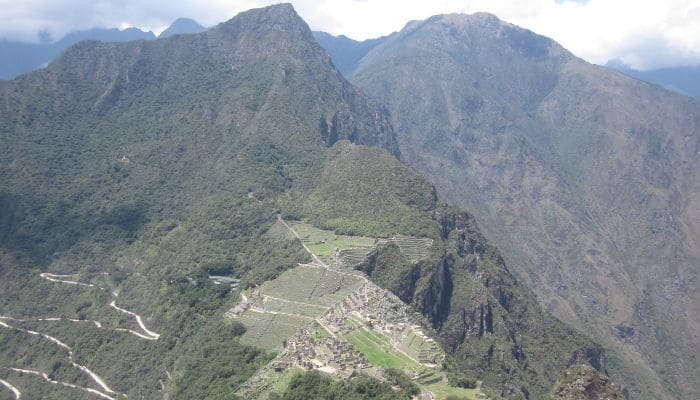
POLYGON ((574 365, 554 386, 551 400, 617 400, 625 399, 619 387, 587 364, 574 365))

